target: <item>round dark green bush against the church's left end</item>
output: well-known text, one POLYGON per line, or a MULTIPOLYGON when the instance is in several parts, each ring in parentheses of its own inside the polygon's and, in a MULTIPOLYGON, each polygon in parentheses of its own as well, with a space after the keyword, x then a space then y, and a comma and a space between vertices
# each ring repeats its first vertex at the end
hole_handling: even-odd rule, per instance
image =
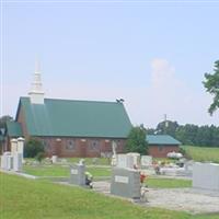
POLYGON ((32 138, 30 139, 24 147, 24 157, 25 158, 35 158, 39 152, 45 152, 44 145, 41 140, 32 138))

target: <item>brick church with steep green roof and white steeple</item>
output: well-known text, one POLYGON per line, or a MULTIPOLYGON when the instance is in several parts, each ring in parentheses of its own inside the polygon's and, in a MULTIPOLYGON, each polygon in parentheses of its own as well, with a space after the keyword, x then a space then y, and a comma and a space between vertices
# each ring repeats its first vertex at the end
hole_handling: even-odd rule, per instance
POLYGON ((19 101, 15 122, 7 124, 10 140, 24 137, 42 140, 46 154, 101 157, 123 152, 131 123, 123 104, 115 102, 46 99, 41 72, 36 69, 28 96, 19 101))

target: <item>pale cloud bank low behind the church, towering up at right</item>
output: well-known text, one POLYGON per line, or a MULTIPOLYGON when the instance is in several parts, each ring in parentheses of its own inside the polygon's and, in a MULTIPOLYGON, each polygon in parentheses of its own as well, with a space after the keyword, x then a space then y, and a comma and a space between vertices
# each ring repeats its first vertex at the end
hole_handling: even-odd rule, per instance
MULTIPOLYGON (((141 79, 143 80, 143 79, 141 79)), ((30 82, 31 83, 31 82, 30 82)), ((146 87, 138 84, 127 88, 118 84, 76 84, 66 81, 61 83, 44 83, 46 97, 115 101, 125 99, 125 106, 134 125, 145 124, 146 127, 155 127, 168 114, 171 120, 180 124, 191 123, 197 125, 219 125, 219 113, 212 117, 207 113, 211 96, 205 90, 196 91, 188 88, 186 82, 177 76, 177 69, 165 59, 153 59, 149 83, 146 87)), ((14 115, 18 100, 26 94, 28 84, 8 84, 3 88, 7 96, 3 100, 5 114, 14 115)))

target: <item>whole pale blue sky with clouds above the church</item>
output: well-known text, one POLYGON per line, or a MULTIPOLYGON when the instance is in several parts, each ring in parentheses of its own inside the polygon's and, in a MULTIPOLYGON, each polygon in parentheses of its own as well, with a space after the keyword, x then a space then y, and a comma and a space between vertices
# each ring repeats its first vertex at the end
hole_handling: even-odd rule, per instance
POLYGON ((46 97, 124 99, 134 125, 219 126, 201 83, 219 59, 219 1, 1 0, 1 116, 15 116, 35 60, 46 97))

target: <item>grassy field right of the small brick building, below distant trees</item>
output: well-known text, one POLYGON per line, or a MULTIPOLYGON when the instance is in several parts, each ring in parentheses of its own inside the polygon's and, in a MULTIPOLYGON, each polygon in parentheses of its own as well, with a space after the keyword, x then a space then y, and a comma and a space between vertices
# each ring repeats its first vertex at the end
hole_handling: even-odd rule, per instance
POLYGON ((211 161, 219 163, 219 148, 182 146, 186 153, 195 161, 211 161))

